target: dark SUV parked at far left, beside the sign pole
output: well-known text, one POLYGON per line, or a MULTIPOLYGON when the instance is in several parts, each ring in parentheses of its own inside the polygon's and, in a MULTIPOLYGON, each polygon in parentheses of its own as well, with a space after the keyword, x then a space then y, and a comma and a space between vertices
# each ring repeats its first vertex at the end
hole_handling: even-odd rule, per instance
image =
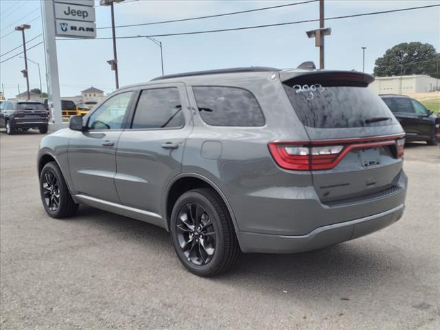
POLYGON ((6 133, 38 129, 47 133, 49 115, 43 103, 36 101, 3 101, 0 104, 0 127, 5 127, 6 133))

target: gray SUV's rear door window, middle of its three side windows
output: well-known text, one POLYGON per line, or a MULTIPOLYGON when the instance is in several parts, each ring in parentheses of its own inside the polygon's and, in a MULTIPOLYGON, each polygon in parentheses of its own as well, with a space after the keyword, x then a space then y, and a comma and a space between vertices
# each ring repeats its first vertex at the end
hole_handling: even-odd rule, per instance
POLYGON ((163 129, 184 126, 176 87, 144 89, 137 102, 132 129, 163 129))

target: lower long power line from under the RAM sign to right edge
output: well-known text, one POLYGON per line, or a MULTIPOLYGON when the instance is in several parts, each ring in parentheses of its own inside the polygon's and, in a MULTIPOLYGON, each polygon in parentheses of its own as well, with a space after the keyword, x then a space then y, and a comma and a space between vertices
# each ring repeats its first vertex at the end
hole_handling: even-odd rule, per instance
MULTIPOLYGON (((352 15, 344 15, 344 16, 337 16, 337 17, 328 17, 327 21, 329 20, 335 20, 335 19, 349 19, 352 17, 362 17, 362 16, 370 16, 370 15, 377 15, 377 14, 388 14, 391 12, 403 12, 406 10, 416 10, 416 9, 423 9, 423 8, 431 8, 431 7, 439 7, 440 4, 437 5, 423 5, 419 7, 410 7, 410 8, 401 8, 401 9, 394 9, 394 10, 383 10, 381 12, 364 12, 362 14, 352 14, 352 15)), ((285 23, 274 23, 274 24, 265 24, 265 25, 252 25, 252 26, 243 26, 241 28, 229 28, 229 29, 219 29, 219 30, 205 30, 205 31, 193 31, 193 32, 178 32, 178 33, 168 33, 168 34, 152 34, 148 35, 150 37, 159 37, 159 36, 184 36, 188 34, 204 34, 204 33, 213 33, 213 32, 229 32, 229 31, 238 31, 238 30, 251 30, 251 29, 259 29, 259 28, 272 28, 274 26, 282 26, 282 25, 294 25, 299 23, 310 23, 310 22, 316 22, 319 21, 319 19, 305 19, 303 21, 294 21, 294 22, 285 22, 285 23)), ((117 36, 116 39, 135 39, 135 38, 144 38, 145 36, 117 36)), ((101 38, 95 38, 95 40, 106 40, 111 39, 111 37, 101 37, 101 38)), ((84 40, 84 39, 59 39, 59 40, 84 40)), ((91 39, 93 40, 93 39, 91 39)))

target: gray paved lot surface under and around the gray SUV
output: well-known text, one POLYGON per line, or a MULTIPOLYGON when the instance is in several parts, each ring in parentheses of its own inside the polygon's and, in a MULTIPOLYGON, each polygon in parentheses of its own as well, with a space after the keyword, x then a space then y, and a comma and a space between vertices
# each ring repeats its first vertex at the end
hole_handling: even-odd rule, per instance
POLYGON ((0 132, 1 329, 440 329, 440 149, 406 148, 404 217, 296 255, 245 254, 198 278, 168 233, 80 208, 47 217, 41 135, 0 132))

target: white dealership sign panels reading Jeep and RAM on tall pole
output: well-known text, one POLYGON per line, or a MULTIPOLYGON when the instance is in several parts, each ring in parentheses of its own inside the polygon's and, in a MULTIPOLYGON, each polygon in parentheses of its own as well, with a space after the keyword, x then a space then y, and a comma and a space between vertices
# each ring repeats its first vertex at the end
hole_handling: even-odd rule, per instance
POLYGON ((93 0, 54 0, 56 36, 96 38, 93 0))

